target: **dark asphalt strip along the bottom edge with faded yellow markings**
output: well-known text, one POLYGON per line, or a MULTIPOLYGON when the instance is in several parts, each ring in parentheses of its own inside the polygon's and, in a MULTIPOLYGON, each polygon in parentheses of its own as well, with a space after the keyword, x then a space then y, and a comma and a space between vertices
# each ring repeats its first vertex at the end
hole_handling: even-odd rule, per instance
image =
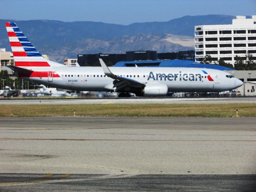
POLYGON ((0 189, 26 191, 254 192, 256 175, 1 174, 0 189), (15 178, 15 179, 14 179, 15 178))

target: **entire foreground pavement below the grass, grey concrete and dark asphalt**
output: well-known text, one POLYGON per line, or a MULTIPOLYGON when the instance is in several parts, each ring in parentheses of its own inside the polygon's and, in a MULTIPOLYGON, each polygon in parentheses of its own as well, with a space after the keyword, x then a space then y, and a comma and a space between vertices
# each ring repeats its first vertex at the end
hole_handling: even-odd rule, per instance
POLYGON ((253 191, 255 118, 0 118, 0 190, 253 191), (24 186, 22 188, 22 186, 24 186))

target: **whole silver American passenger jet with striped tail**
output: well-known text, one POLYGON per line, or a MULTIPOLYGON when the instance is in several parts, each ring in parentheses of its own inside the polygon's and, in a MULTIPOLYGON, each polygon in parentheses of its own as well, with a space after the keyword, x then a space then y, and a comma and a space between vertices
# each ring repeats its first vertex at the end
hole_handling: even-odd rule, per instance
POLYGON ((119 97, 166 96, 168 92, 221 92, 242 86, 231 74, 206 68, 69 67, 46 60, 14 22, 6 22, 15 76, 77 91, 120 93, 119 97))

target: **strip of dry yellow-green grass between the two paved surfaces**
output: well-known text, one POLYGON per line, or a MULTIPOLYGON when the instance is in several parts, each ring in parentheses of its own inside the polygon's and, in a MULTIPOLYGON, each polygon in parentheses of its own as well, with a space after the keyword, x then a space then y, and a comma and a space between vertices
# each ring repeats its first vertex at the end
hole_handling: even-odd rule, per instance
POLYGON ((256 117, 256 104, 73 104, 1 105, 0 116, 39 117, 137 116, 137 117, 256 117))

